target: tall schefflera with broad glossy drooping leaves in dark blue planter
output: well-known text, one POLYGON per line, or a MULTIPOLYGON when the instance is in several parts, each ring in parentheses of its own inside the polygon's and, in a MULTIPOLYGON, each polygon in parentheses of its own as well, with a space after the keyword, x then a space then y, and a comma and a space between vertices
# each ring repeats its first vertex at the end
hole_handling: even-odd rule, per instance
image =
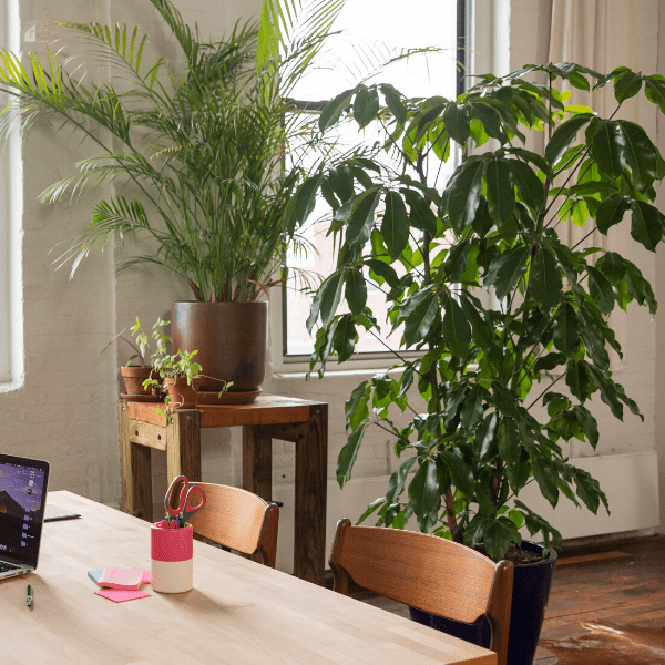
POLYGON ((575 224, 586 238, 630 225, 651 252, 663 239, 653 202, 664 162, 642 126, 620 119, 642 91, 665 112, 663 76, 560 63, 481 76, 457 100, 409 100, 391 85, 360 84, 323 111, 321 132, 350 111, 360 127, 381 125, 382 144, 375 156, 358 151, 323 164, 287 209, 303 223, 319 193, 332 209, 337 268, 313 300, 308 327, 320 325, 311 369, 320 361, 321 376, 330 356, 347 360, 360 331, 383 325, 367 305, 368 282, 385 294, 392 330, 403 325, 390 374, 362 381, 346 403, 341 487, 369 427, 390 432, 405 458, 360 522, 377 513, 378 524, 399 529, 415 515, 423 532, 482 542, 499 561, 521 543, 524 523, 545 548, 561 543, 520 500, 531 482, 552 507, 563 494, 593 513, 601 503, 608 511, 597 481, 570 463, 562 442, 595 449, 589 402, 598 397, 620 420, 626 407, 642 418, 612 377, 608 349, 622 350, 608 317, 634 300, 653 315, 656 301, 625 256, 569 246, 560 232, 575 224), (526 80, 536 73, 544 83, 526 80), (603 119, 566 105, 557 79, 586 91, 611 85, 616 109, 603 119), (533 131, 545 133, 544 154, 524 147, 533 131), (436 174, 453 143, 473 154, 441 190, 436 174), (484 144, 495 150, 477 150, 484 144), (381 151, 397 166, 377 158, 381 151), (490 290, 499 305, 479 297, 490 290), (338 313, 342 304, 348 310, 338 313), (422 355, 405 357, 406 349, 422 355), (409 403, 413 383, 427 412, 409 403), (400 411, 410 413, 406 426, 393 422, 400 411))

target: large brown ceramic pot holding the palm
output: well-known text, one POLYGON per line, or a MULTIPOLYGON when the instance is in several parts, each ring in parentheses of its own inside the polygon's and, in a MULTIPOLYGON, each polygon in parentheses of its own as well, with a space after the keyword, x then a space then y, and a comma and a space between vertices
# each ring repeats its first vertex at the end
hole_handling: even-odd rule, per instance
POLYGON ((229 391, 260 389, 265 377, 267 303, 173 303, 171 337, 173 352, 197 350, 202 367, 202 391, 218 391, 222 381, 233 381, 229 391), (206 378, 206 377, 213 377, 206 378), (218 380, 214 380, 218 379, 218 380))

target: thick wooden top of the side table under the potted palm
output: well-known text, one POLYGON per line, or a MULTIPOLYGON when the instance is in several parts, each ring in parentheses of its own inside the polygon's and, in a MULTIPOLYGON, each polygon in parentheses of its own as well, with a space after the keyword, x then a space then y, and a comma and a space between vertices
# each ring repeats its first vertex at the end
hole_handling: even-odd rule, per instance
MULTIPOLYGON (((295 397, 259 395, 250 405, 197 405, 201 427, 235 427, 242 424, 283 424, 306 422, 309 408, 324 402, 295 397)), ((166 408, 160 402, 127 402, 129 416, 151 424, 165 426, 166 408)))

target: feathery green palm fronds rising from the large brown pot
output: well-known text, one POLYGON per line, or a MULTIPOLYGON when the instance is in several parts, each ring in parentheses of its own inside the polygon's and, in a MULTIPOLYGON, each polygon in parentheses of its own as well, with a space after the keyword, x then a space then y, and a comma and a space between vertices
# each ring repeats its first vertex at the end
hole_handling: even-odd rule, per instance
POLYGON ((119 188, 93 208, 86 233, 64 255, 72 272, 112 236, 143 237, 149 252, 119 268, 158 264, 184 278, 197 300, 254 300, 297 242, 284 209, 300 168, 283 172, 282 157, 303 124, 288 95, 344 0, 309 3, 306 12, 304 0, 263 0, 257 24, 238 24, 214 43, 202 41, 170 0, 150 1, 183 64, 164 58, 146 64, 147 35, 139 28, 63 23, 113 78, 91 83, 94 70, 85 75, 50 50, 45 61, 30 53, 28 69, 0 51, 0 90, 13 96, 0 132, 17 114, 24 131, 40 116, 55 116, 95 147, 78 173, 43 192, 44 202, 86 185, 119 188), (127 183, 135 195, 125 197, 120 187, 127 183))

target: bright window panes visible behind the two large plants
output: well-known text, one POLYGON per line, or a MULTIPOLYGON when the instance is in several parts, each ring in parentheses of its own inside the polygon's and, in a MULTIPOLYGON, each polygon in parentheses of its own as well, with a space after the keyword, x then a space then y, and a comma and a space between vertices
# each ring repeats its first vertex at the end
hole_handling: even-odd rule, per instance
MULTIPOLYGON (((372 82, 389 82, 407 96, 431 96, 442 94, 449 99, 461 92, 462 75, 458 62, 464 61, 466 49, 462 48, 466 34, 464 2, 441 0, 413 0, 409 4, 409 13, 418 16, 418 20, 400 20, 405 16, 401 0, 347 0, 335 30, 342 34, 331 38, 328 59, 320 69, 306 76, 296 89, 295 96, 306 102, 319 102, 332 94, 352 88, 376 63, 385 60, 399 49, 411 49, 424 45, 442 48, 441 53, 415 55, 408 60, 393 63, 387 70, 379 70, 372 82), (429 17, 423 21, 422 17, 429 17), (365 64, 364 64, 365 63, 365 64)), ((321 109, 325 103, 316 104, 321 109)), ((311 105, 310 105, 311 108, 311 105)), ((361 133, 355 125, 342 130, 337 136, 342 145, 364 143, 371 145, 379 135, 379 127, 371 125, 361 133)), ((453 155, 440 174, 438 186, 443 188, 447 178, 459 163, 459 155, 453 155)), ((296 269, 310 270, 325 277, 334 266, 332 237, 326 237, 328 211, 325 203, 315 208, 310 219, 315 219, 307 229, 308 241, 317 253, 291 255, 289 266, 296 269)), ((294 288, 293 280, 283 289, 282 352, 285 364, 308 360, 314 350, 314 340, 307 334, 306 320, 309 315, 310 297, 294 288)), ((387 306, 382 294, 368 284, 368 305, 379 323, 386 320, 387 306)), ((381 325, 382 335, 389 331, 388 325, 381 325)), ((399 332, 396 332, 398 335, 399 332)), ((365 336, 357 345, 357 356, 367 359, 381 357, 386 352, 383 339, 365 336)))

